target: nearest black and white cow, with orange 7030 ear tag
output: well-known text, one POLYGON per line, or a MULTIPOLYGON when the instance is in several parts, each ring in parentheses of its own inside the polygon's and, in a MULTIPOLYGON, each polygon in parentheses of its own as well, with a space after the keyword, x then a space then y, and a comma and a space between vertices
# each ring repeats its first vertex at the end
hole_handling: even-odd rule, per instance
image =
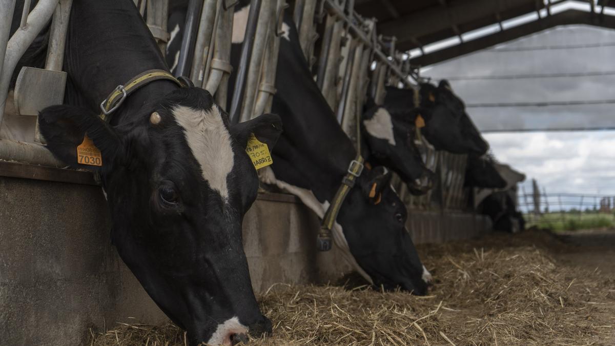
POLYGON ((102 121, 99 104, 117 85, 168 70, 131 0, 73 2, 64 69, 66 104, 41 111, 41 134, 72 167, 93 168, 77 163, 84 135, 100 149, 103 166, 95 170, 112 241, 149 296, 191 345, 271 332, 252 291, 242 220, 258 188, 248 136, 271 147, 279 117, 230 126, 212 95, 161 79, 129 95, 110 124, 102 121))

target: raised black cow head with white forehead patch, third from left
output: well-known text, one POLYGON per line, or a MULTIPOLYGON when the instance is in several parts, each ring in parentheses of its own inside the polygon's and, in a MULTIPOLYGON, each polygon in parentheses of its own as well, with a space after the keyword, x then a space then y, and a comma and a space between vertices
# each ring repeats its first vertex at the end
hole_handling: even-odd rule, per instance
POLYGON ((429 171, 415 144, 415 110, 389 111, 371 107, 363 113, 362 126, 370 158, 390 167, 408 184, 408 190, 423 195, 433 186, 435 174, 429 171))

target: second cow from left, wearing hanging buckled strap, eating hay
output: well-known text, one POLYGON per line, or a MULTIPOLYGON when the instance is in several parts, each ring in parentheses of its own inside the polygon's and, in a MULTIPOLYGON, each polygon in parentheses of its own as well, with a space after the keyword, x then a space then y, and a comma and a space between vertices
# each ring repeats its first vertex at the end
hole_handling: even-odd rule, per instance
MULTIPOLYGON (((285 132, 263 181, 298 196, 323 217, 356 151, 312 79, 290 10, 283 30, 272 110, 285 132)), ((333 236, 375 286, 425 294, 431 275, 405 228, 407 211, 390 179, 384 167, 365 169, 341 206, 333 236)))

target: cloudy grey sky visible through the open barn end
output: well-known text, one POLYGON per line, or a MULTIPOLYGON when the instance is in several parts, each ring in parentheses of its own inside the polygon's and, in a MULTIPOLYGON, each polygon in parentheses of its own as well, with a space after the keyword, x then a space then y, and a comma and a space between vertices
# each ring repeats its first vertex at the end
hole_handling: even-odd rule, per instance
POLYGON ((615 131, 489 132, 506 129, 615 129, 615 104, 471 107, 476 103, 615 99, 615 31, 560 26, 423 68, 435 81, 451 78, 499 161, 536 179, 547 193, 615 196, 615 131), (579 46, 544 49, 544 46, 579 46), (589 47, 591 46, 591 47, 589 47), (542 49, 534 49, 542 47, 542 49), (598 76, 467 79, 467 76, 606 72, 598 76), (609 74, 609 72, 611 74, 609 74), (464 79, 466 78, 466 79, 464 79))

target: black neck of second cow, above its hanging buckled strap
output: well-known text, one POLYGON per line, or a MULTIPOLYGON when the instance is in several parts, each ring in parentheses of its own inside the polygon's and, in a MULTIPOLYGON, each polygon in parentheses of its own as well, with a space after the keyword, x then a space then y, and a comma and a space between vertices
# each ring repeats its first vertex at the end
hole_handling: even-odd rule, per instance
MULTIPOLYGON (((287 21, 288 11, 285 13, 287 21)), ((311 189, 320 201, 331 201, 356 150, 312 79, 297 43, 294 23, 289 26, 290 41, 280 39, 276 76, 276 99, 279 100, 274 102, 274 105, 282 105, 281 109, 274 109, 284 123, 285 140, 281 144, 292 147, 285 150, 292 152, 291 155, 282 156, 287 156, 285 159, 295 168, 296 174, 307 180, 304 187, 311 189)), ((287 174, 276 172, 284 181, 288 181, 287 174)))

